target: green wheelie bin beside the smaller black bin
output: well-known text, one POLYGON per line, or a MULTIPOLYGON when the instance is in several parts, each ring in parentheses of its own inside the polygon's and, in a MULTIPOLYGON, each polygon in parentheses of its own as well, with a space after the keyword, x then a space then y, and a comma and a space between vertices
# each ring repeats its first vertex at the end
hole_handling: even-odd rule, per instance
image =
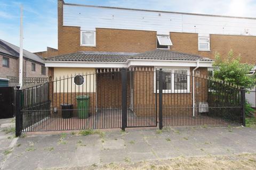
POLYGON ((78 118, 88 118, 90 108, 90 96, 81 95, 76 97, 78 118))

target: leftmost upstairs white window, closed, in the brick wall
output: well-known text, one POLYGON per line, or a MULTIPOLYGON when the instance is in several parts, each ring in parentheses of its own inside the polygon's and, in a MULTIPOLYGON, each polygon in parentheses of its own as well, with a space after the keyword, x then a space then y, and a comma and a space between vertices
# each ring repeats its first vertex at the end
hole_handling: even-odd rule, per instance
POLYGON ((81 46, 96 46, 96 32, 95 31, 81 31, 80 35, 81 46))

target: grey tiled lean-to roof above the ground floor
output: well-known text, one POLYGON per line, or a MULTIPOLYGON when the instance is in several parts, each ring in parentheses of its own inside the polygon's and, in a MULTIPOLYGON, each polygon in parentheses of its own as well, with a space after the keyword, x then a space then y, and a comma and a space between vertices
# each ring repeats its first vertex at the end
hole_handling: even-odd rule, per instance
POLYGON ((198 55, 156 49, 145 53, 77 52, 47 58, 46 61, 126 62, 128 59, 212 61, 198 55))

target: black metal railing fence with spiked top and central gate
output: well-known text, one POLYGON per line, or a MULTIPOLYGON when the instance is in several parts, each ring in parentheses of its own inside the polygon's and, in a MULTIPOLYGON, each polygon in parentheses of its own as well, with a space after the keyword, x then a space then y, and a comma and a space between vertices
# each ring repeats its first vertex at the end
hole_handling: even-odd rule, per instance
POLYGON ((245 124, 245 90, 186 70, 97 69, 17 90, 17 94, 17 135, 21 131, 245 124))

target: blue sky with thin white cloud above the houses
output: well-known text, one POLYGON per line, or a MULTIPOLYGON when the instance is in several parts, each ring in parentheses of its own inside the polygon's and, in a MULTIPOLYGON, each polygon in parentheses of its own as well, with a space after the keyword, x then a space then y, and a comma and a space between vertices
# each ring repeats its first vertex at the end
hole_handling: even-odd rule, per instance
MULTIPOLYGON (((256 0, 66 0, 65 3, 256 18, 256 0)), ((23 5, 23 48, 58 48, 57 0, 0 0, 0 39, 19 46, 23 5)))

